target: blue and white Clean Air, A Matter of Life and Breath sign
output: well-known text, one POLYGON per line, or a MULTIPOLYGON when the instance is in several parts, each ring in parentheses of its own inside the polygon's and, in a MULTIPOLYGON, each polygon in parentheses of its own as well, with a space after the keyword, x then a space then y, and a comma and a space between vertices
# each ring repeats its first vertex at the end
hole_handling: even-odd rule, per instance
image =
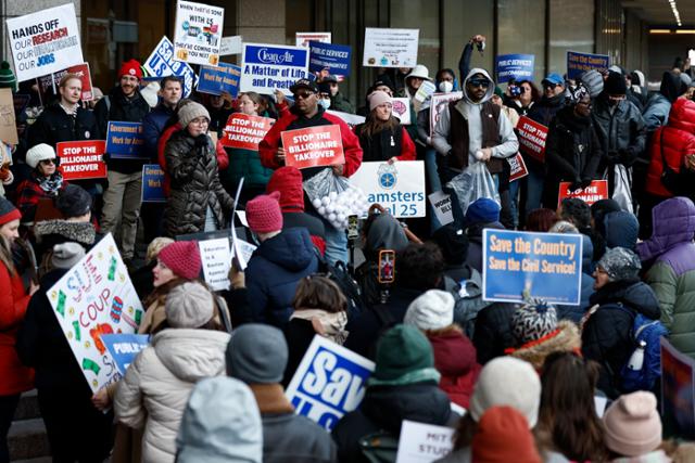
POLYGON ((280 90, 291 95, 290 87, 308 74, 308 50, 301 47, 244 43, 241 91, 271 94, 280 90))

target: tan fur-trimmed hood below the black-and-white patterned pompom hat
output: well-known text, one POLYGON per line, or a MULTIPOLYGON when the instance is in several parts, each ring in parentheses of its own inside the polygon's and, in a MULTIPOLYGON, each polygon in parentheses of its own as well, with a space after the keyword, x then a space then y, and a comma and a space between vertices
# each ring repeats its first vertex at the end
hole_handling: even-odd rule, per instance
POLYGON ((507 349, 506 353, 531 363, 536 371, 541 371, 545 358, 553 352, 577 351, 582 347, 579 327, 569 320, 557 323, 557 330, 538 340, 525 344, 518 349, 507 349))

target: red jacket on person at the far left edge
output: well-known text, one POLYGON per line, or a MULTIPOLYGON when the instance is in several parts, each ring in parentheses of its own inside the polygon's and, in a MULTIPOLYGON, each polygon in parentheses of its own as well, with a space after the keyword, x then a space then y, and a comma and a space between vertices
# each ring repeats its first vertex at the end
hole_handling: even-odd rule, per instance
POLYGON ((20 323, 30 296, 22 278, 10 275, 0 263, 0 396, 24 393, 34 387, 34 370, 23 366, 14 349, 20 323))

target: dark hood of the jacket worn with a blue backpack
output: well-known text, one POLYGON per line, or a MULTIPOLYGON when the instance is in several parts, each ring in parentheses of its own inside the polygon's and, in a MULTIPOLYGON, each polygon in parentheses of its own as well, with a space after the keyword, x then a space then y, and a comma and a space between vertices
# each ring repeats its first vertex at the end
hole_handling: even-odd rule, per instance
POLYGON ((620 303, 652 320, 661 318, 661 309, 654 291, 648 284, 641 281, 626 280, 606 283, 591 295, 589 301, 592 306, 620 303))

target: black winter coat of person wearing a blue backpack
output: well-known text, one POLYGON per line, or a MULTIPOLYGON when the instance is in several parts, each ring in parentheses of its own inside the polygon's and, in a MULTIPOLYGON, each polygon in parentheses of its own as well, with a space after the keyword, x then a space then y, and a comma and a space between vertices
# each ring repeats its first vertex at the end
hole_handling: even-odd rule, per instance
POLYGON ((602 365, 597 387, 611 398, 620 395, 610 371, 620 374, 620 369, 634 350, 632 324, 635 314, 659 320, 661 310, 654 291, 641 281, 610 282, 590 297, 598 309, 591 314, 582 330, 582 353, 602 365), (631 309, 622 310, 622 305, 631 309))

